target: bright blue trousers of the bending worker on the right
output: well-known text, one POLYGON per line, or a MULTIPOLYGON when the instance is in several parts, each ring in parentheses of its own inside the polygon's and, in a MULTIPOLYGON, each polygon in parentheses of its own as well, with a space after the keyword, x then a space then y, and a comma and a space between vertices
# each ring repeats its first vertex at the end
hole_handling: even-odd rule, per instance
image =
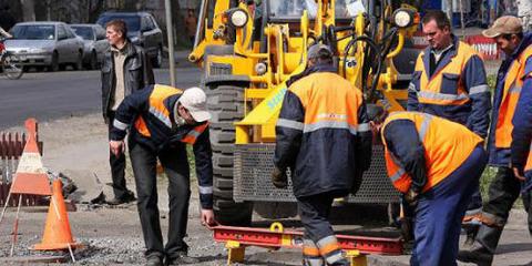
POLYGON ((487 160, 482 147, 474 149, 460 167, 420 195, 410 265, 457 265, 462 218, 487 160))

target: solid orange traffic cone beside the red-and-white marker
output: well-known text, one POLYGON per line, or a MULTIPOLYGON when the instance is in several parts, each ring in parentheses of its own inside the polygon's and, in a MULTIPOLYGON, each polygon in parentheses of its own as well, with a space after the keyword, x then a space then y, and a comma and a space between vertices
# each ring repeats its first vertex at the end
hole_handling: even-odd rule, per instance
POLYGON ((47 225, 41 244, 33 246, 35 250, 73 249, 80 244, 72 238, 69 216, 64 205, 62 184, 60 180, 53 181, 52 198, 48 209, 47 225))

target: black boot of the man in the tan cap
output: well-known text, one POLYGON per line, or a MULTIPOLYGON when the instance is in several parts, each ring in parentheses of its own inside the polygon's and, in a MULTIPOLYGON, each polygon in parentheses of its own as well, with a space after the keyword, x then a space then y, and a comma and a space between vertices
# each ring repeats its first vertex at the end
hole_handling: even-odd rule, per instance
POLYGON ((503 227, 480 226, 477 241, 468 249, 458 253, 458 260, 474 263, 479 266, 490 266, 493 262, 493 254, 501 238, 503 227))

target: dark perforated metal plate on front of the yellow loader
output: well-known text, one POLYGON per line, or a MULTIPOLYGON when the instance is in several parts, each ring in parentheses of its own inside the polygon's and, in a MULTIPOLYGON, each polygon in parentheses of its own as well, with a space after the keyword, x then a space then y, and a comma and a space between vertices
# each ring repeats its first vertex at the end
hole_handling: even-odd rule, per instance
MULTIPOLYGON (((272 184, 274 152, 273 143, 235 145, 233 197, 236 202, 296 202, 290 178, 286 190, 276 188, 272 184)), ((350 195, 349 202, 380 204, 399 202, 399 193, 386 174, 382 146, 374 146, 371 166, 364 174, 357 195, 350 195)))

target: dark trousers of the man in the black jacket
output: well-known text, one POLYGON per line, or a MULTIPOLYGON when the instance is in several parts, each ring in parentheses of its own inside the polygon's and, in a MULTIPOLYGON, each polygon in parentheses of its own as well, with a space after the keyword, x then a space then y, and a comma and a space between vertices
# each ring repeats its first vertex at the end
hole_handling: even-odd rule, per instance
MULTIPOLYGON (((114 112, 108 112, 109 132, 113 129, 114 112)), ((109 151, 109 164, 111 165, 111 177, 113 180, 113 192, 115 198, 125 198, 127 196, 127 187, 125 186, 125 154, 119 156, 109 151)))

